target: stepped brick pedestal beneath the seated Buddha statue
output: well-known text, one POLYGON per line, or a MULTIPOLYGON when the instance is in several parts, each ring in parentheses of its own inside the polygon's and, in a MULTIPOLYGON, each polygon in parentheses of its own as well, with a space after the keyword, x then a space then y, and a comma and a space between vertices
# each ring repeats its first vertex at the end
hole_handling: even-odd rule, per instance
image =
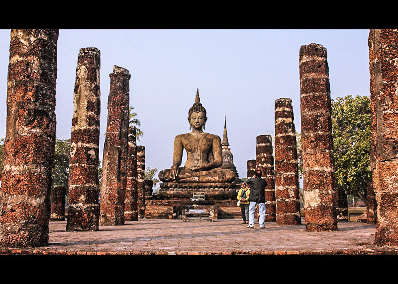
POLYGON ((237 202, 236 183, 160 183, 158 193, 145 197, 145 218, 183 219, 183 212, 192 209, 204 209, 210 218, 242 218, 237 202), (193 199, 194 193, 204 194, 203 200, 193 199))

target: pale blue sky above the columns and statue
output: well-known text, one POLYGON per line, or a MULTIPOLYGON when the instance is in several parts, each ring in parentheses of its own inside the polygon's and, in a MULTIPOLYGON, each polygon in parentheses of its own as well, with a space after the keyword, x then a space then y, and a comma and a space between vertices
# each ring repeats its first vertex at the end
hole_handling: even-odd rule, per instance
MULTIPOLYGON (((5 137, 9 30, 0 30, 0 138, 5 137)), ((369 30, 60 30, 57 73, 57 138, 68 139, 80 48, 101 53, 100 159, 106 130, 109 73, 130 71, 130 106, 138 113, 146 166, 170 168, 174 138, 188 133, 188 110, 199 88, 207 110, 205 131, 222 138, 226 116, 234 164, 246 177, 256 137, 274 133, 278 98, 291 98, 300 131, 298 52, 327 49, 331 98, 369 96, 369 30)), ((186 154, 183 156, 183 164, 186 154)))

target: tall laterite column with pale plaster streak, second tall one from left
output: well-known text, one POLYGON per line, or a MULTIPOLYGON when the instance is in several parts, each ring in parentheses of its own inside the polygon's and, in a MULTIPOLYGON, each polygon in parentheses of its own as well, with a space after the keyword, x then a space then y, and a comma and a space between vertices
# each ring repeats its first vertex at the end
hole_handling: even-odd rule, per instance
POLYGON ((82 48, 76 68, 67 231, 98 231, 100 144, 100 51, 82 48))

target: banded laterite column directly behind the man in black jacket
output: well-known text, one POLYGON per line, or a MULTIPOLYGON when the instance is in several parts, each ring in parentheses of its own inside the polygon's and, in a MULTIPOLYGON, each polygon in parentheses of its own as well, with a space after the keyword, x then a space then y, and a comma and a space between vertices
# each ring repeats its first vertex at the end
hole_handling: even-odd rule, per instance
POLYGON ((265 221, 276 221, 275 170, 271 135, 260 135, 256 138, 256 169, 263 171, 262 178, 267 182, 265 187, 265 221))

